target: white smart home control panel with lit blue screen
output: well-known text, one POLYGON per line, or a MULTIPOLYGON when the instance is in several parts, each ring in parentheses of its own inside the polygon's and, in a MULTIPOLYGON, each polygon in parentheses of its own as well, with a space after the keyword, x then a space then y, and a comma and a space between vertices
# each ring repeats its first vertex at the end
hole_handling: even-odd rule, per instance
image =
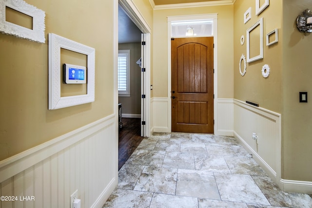
POLYGON ((63 64, 64 82, 66 84, 85 84, 86 83, 86 68, 73 64, 63 64))

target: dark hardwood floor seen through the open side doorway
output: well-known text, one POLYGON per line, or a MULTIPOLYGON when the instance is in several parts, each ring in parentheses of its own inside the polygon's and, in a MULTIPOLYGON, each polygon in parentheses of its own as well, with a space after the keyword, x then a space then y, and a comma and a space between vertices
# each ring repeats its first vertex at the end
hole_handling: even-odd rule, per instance
POLYGON ((143 140, 140 122, 140 118, 122 118, 123 125, 118 142, 118 170, 143 140))

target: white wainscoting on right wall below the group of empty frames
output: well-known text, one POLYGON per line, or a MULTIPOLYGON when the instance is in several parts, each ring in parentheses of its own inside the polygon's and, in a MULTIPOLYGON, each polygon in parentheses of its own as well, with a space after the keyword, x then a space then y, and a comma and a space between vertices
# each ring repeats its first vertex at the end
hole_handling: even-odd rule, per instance
POLYGON ((234 99, 234 136, 280 186, 281 115, 234 99))

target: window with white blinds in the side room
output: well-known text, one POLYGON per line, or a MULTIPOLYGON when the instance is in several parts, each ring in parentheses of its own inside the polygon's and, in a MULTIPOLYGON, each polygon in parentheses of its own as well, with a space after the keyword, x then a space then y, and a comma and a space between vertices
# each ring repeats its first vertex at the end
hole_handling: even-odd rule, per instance
POLYGON ((118 94, 130 96, 130 50, 118 51, 118 94))

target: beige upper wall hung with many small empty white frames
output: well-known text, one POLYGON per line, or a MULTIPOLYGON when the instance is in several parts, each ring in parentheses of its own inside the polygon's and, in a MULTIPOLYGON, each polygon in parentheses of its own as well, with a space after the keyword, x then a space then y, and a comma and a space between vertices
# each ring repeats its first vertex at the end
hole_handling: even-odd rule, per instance
MULTIPOLYGON (((260 1, 262 2, 262 1, 260 1)), ((252 101, 259 107, 281 113, 281 60, 282 60, 282 0, 270 1, 270 6, 258 16, 255 15, 255 2, 237 0, 234 3, 234 98, 241 101, 252 101), (252 18, 244 24, 244 13, 251 7, 252 18), (263 18, 263 59, 247 63, 245 76, 239 73, 239 60, 242 54, 247 59, 246 31, 260 18, 263 18), (266 46, 266 34, 278 28, 279 42, 266 46), (240 38, 244 35, 245 43, 241 45, 240 38), (264 64, 270 66, 270 76, 264 78, 261 70, 264 64)), ((259 29, 257 29, 259 31, 259 29)), ((256 31, 255 31, 256 32, 256 31)), ((251 33, 252 34, 252 33, 251 33)), ((251 43, 253 43, 251 41, 251 43)), ((259 43, 251 45, 251 51, 259 43)), ((243 70, 243 65, 242 65, 243 70)))

